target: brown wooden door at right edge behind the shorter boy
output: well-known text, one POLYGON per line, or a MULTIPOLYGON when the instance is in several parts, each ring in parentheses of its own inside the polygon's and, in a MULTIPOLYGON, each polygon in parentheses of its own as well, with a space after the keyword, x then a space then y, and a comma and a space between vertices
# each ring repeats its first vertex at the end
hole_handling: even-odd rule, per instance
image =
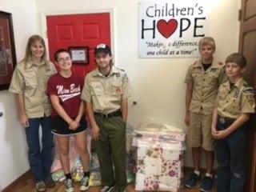
MULTIPOLYGON (((256 1, 242 0, 242 21, 239 38, 239 52, 247 59, 243 77, 256 90, 256 1)), ((256 191, 256 115, 251 115, 248 122, 248 174, 246 191, 256 191)))

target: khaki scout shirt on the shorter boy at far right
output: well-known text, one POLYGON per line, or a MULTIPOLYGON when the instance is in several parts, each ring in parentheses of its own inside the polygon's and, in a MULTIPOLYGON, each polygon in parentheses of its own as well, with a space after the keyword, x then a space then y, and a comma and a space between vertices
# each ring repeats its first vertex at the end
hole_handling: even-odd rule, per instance
POLYGON ((218 114, 225 118, 238 118, 240 114, 254 114, 254 89, 240 78, 230 89, 230 82, 223 83, 218 89, 216 100, 218 114))

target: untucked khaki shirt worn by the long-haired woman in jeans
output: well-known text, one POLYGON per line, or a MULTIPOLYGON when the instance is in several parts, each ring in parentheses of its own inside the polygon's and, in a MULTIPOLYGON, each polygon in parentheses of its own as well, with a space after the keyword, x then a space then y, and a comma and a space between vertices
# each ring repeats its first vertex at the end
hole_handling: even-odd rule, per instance
POLYGON ((55 74, 52 62, 42 62, 39 66, 28 62, 20 62, 15 67, 9 91, 24 95, 24 105, 28 118, 41 118, 51 113, 50 98, 46 94, 48 78, 55 74))

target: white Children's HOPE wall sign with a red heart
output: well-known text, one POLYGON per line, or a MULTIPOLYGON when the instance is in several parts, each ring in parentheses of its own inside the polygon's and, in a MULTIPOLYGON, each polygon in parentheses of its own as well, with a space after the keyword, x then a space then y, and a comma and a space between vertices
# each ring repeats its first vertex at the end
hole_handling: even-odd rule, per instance
POLYGON ((208 30, 209 4, 203 0, 139 2, 139 58, 199 57, 198 41, 208 30))

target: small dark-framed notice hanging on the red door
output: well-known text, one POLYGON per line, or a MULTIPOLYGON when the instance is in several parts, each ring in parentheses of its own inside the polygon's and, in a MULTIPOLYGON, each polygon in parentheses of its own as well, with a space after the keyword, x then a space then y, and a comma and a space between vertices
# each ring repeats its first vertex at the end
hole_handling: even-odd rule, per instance
POLYGON ((89 64, 89 47, 88 46, 69 46, 72 63, 89 64))

